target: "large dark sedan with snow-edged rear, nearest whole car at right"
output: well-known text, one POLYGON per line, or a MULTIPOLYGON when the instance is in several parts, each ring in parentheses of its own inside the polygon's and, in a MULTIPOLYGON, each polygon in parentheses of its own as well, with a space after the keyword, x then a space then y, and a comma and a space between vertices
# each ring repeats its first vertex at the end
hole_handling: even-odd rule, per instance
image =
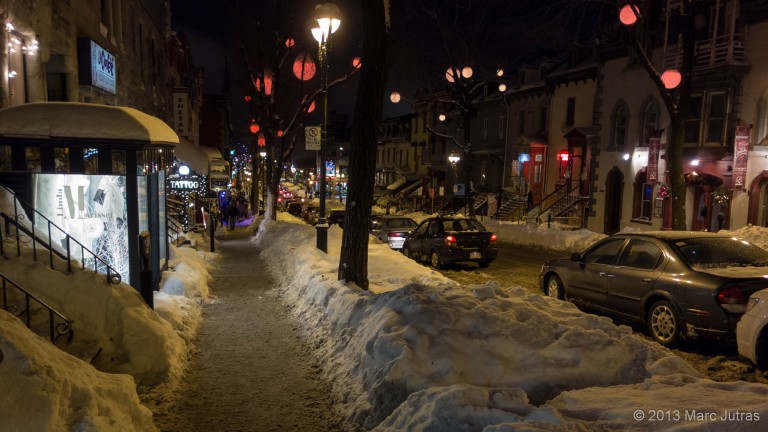
POLYGON ((768 252, 725 234, 653 231, 607 237, 541 268, 541 289, 644 323, 671 346, 707 332, 734 335, 747 299, 768 287, 768 252))

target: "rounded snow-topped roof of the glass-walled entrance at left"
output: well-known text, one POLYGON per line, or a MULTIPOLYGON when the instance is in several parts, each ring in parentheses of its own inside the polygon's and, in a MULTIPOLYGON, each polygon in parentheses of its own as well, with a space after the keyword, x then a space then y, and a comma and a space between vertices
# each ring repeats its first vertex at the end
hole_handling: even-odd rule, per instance
POLYGON ((179 143, 176 132, 157 117, 128 107, 78 102, 36 102, 2 109, 0 136, 179 143))

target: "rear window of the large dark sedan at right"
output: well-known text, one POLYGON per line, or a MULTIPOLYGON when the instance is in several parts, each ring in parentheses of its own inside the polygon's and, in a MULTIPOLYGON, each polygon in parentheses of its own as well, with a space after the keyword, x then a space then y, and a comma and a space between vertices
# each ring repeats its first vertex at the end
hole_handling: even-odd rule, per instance
POLYGON ((693 267, 768 267, 768 252, 735 238, 698 238, 675 242, 693 267))

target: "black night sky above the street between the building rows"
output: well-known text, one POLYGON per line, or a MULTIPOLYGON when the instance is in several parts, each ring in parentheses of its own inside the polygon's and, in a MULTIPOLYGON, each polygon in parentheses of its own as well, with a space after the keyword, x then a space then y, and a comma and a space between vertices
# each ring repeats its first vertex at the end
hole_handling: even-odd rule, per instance
MULTIPOLYGON (((331 80, 347 71, 352 59, 360 54, 360 1, 335 2, 342 10, 344 20, 334 34, 333 49, 329 54, 331 80)), ((242 112, 247 111, 245 104, 240 102, 249 84, 243 49, 258 45, 254 43, 259 37, 256 29, 262 28, 262 36, 270 37, 271 31, 279 27, 282 34, 289 33, 296 39, 297 46, 307 47, 306 51, 316 58, 317 43, 309 28, 317 3, 313 0, 171 1, 173 29, 187 36, 193 61, 204 70, 206 93, 225 92, 222 84, 227 65, 233 126, 238 127, 238 115, 248 116, 247 112, 242 112)), ((576 40, 573 36, 563 37, 564 28, 577 34, 584 28, 591 28, 595 20, 587 8, 565 8, 563 4, 576 2, 392 0, 387 95, 397 90, 405 97, 413 97, 421 87, 439 88, 443 84, 442 75, 451 62, 471 64, 477 75, 492 76, 498 67, 511 71, 524 61, 545 55, 550 48, 562 49, 576 40), (430 18, 431 14, 437 16, 437 20, 430 18)), ((249 58, 253 63, 254 59, 249 58)), ((310 85, 317 85, 317 80, 310 85)), ((329 91, 330 110, 350 114, 351 118, 356 91, 357 79, 332 88, 329 91)), ((394 105, 388 98, 385 100, 385 116, 408 111, 405 103, 394 105)))

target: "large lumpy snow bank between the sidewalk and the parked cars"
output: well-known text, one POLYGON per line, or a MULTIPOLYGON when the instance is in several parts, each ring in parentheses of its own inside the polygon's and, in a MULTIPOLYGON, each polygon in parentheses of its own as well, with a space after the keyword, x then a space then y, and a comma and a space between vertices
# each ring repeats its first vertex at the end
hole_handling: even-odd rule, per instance
POLYGON ((458 286, 385 245, 369 245, 371 291, 345 286, 336 277, 341 230, 329 230, 328 255, 315 235, 294 220, 267 221, 255 242, 281 257, 270 260, 281 295, 347 420, 366 428, 481 428, 515 416, 552 426, 567 415, 536 405, 563 391, 698 375, 607 318, 520 287, 458 286))

